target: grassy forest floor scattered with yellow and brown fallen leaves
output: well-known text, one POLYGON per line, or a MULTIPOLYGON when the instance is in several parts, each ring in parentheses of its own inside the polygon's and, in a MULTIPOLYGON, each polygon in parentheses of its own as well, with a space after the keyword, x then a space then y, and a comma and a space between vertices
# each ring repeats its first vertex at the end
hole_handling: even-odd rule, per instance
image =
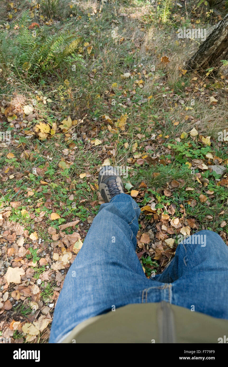
POLYGON ((202 40, 178 38, 184 27, 209 34, 227 7, 163 7, 1 8, 0 336, 11 342, 48 341, 65 275, 103 203, 102 165, 126 172, 141 207, 145 276, 162 272, 181 236, 210 229, 228 244, 228 62, 187 72, 202 40))

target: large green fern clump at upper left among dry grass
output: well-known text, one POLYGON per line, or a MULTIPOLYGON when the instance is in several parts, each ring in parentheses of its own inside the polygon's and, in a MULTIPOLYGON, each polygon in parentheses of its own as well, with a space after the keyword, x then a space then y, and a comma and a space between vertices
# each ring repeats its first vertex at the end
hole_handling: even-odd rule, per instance
POLYGON ((0 62, 13 63, 17 74, 26 70, 31 79, 38 81, 43 78, 44 73, 69 66, 69 51, 75 51, 79 37, 64 29, 55 29, 55 33, 50 34, 48 26, 36 28, 34 37, 34 31, 28 29, 30 22, 28 11, 25 11, 21 17, 19 32, 13 40, 7 32, 0 34, 0 62))

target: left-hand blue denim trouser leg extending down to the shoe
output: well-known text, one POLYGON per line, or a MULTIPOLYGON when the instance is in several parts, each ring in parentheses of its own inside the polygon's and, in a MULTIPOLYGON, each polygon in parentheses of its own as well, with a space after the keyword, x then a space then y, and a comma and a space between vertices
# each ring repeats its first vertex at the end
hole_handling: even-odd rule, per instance
MULTIPOLYGON (((139 215, 137 203, 126 194, 101 205, 66 275, 55 307, 50 342, 113 306, 145 302, 142 292, 150 287, 151 280, 146 278, 135 253, 139 215)), ((153 302, 168 302, 169 288, 158 281, 153 284, 153 302)))

